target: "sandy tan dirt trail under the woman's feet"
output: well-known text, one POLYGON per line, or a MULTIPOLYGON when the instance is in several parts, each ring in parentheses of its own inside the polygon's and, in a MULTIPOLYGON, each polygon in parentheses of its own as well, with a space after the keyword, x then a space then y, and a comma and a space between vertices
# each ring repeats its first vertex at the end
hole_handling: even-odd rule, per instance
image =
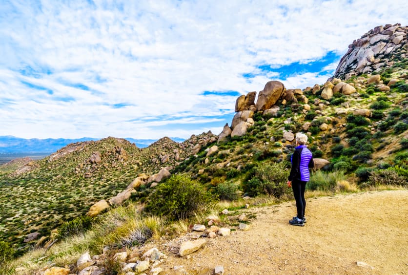
POLYGON ((231 275, 408 274, 408 190, 310 198, 306 204, 304 227, 288 224, 294 201, 245 210, 257 216, 250 231, 208 239, 190 259, 170 255, 163 273, 212 274, 222 265, 231 275))

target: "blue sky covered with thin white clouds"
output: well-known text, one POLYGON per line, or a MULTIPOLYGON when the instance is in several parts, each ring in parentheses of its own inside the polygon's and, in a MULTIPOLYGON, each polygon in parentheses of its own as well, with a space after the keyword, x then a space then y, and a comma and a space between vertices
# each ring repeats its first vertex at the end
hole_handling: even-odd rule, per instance
POLYGON ((0 136, 188 138, 269 80, 323 84, 393 0, 0 0, 0 136))

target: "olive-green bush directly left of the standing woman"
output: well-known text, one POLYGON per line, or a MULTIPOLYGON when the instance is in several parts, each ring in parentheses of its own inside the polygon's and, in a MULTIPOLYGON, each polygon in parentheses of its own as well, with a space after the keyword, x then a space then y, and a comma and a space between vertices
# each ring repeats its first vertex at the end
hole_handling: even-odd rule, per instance
POLYGON ((289 170, 284 163, 261 163, 251 169, 244 180, 244 191, 256 196, 264 193, 279 198, 286 192, 289 170))

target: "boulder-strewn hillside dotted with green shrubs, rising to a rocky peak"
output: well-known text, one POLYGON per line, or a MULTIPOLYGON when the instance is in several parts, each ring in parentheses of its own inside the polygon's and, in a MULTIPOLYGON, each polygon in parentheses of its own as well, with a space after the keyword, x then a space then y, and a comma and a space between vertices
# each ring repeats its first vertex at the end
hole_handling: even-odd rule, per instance
POLYGON ((3 172, 1 240, 24 246, 29 233, 48 238, 74 217, 126 200, 145 202, 170 174, 189 175, 218 195, 226 188, 245 191, 252 168, 289 166, 300 131, 309 136, 316 169, 344 170, 357 184, 365 184, 368 171, 378 172, 379 181, 392 176, 407 184, 406 47, 407 27, 376 27, 353 42, 325 84, 286 89, 270 81, 258 95, 240 96, 218 136, 208 132, 183 143, 162 138, 143 149, 110 137, 3 172))

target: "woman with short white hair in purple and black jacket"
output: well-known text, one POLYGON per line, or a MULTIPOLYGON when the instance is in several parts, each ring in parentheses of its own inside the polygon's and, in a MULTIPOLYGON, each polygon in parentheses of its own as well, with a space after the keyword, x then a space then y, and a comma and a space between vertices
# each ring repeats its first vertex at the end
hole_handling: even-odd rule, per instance
POLYGON ((292 187, 296 200, 297 216, 289 221, 291 225, 305 226, 305 189, 310 179, 309 168, 313 167, 312 152, 306 148, 307 136, 303 133, 296 134, 296 148, 290 161, 292 168, 287 181, 287 186, 292 187))

